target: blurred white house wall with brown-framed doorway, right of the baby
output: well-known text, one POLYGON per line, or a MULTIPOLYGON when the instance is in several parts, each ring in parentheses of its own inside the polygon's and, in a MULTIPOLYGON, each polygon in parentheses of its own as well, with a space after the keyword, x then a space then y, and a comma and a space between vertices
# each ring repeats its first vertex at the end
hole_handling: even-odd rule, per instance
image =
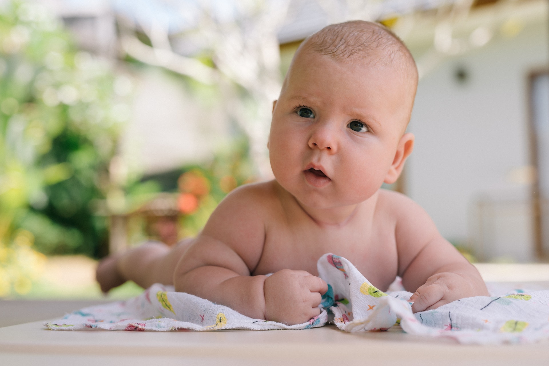
MULTIPOLYGON (((440 60, 419 83, 407 194, 481 260, 549 255, 547 5, 473 9, 454 29, 473 47, 440 60)), ((414 54, 433 43, 431 24, 407 37, 414 54)))

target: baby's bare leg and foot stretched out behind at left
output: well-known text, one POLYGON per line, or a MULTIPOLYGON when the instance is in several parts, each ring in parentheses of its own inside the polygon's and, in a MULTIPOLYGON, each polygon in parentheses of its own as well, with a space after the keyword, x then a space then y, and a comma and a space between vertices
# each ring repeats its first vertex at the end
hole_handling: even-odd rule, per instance
POLYGON ((96 278, 101 291, 132 280, 143 288, 154 283, 173 284, 177 262, 194 239, 185 239, 169 247, 159 241, 149 241, 120 254, 110 255, 97 266, 96 278))

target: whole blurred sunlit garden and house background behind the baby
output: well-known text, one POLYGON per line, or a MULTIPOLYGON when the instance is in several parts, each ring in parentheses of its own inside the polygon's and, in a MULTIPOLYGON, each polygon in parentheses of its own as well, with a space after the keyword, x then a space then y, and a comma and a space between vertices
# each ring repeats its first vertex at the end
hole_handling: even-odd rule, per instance
POLYGON ((175 244, 270 178, 295 49, 350 19, 390 27, 421 77, 386 188, 471 261, 547 261, 546 0, 0 0, 0 297, 100 297, 99 258, 175 244))

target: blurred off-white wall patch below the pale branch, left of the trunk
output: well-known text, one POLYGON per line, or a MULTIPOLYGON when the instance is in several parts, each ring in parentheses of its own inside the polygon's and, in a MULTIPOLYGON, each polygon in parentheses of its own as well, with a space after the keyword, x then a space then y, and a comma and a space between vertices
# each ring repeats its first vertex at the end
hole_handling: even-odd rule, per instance
POLYGON ((132 118, 121 153, 133 169, 152 174, 212 158, 234 131, 214 92, 190 91, 161 70, 135 74, 132 118))

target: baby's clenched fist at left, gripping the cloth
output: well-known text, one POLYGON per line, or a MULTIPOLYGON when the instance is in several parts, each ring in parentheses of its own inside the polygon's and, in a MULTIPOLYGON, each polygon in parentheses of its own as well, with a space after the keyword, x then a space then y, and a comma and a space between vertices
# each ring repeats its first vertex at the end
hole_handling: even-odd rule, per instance
POLYGON ((265 319, 288 325, 320 314, 318 305, 328 285, 306 271, 282 269, 265 279, 265 319))

